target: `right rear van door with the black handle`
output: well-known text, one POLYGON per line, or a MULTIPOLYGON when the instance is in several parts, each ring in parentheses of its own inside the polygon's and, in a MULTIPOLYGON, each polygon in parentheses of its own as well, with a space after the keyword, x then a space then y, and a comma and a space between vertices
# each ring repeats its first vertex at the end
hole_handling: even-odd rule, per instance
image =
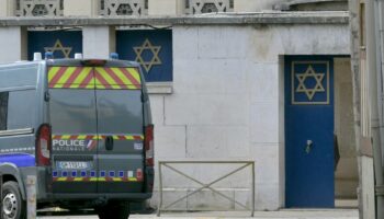
POLYGON ((99 193, 143 191, 144 116, 137 68, 95 67, 99 193))

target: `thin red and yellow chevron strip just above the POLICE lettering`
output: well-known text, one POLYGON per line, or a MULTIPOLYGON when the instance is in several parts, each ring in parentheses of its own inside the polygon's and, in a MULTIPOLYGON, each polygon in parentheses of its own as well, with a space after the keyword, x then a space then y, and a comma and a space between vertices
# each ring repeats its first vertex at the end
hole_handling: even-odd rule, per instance
POLYGON ((53 135, 55 140, 102 140, 112 136, 114 140, 144 140, 143 135, 53 135))

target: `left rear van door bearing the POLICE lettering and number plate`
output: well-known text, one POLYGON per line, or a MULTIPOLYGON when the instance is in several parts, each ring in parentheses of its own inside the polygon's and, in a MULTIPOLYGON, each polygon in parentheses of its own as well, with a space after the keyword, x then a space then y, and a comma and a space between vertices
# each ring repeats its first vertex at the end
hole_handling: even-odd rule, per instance
POLYGON ((53 192, 97 193, 98 125, 91 67, 50 67, 53 192))

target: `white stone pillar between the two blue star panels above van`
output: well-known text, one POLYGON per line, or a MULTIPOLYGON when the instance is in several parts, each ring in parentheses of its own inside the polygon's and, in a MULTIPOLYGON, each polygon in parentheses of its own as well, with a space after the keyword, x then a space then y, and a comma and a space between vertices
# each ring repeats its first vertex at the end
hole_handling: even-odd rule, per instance
POLYGON ((82 28, 82 50, 84 58, 106 59, 116 50, 114 26, 84 26, 82 28))

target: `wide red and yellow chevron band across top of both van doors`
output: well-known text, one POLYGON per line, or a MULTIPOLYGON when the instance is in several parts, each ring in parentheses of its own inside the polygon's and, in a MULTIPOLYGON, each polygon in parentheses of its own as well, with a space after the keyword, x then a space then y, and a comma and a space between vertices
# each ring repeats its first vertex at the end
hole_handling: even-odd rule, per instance
POLYGON ((137 68, 50 67, 50 89, 142 89, 137 68))

